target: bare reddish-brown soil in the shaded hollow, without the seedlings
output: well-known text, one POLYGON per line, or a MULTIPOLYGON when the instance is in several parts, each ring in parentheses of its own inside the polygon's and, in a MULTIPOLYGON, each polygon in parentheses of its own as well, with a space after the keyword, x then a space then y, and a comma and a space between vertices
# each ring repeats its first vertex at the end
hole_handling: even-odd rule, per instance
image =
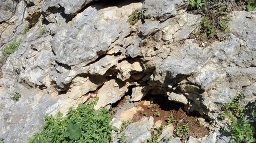
MULTIPOLYGON (((157 96, 156 96, 157 97, 157 96)), ((197 117, 194 115, 188 115, 184 110, 182 110, 181 105, 177 103, 170 103, 169 101, 164 101, 164 98, 153 99, 153 104, 150 106, 142 105, 140 102, 138 106, 141 106, 144 110, 137 111, 136 115, 133 116, 133 122, 141 120, 143 117, 154 117, 154 123, 158 120, 162 121, 162 126, 167 124, 168 117, 173 114, 177 122, 173 122, 173 126, 185 125, 189 123, 189 131, 187 136, 183 136, 182 139, 186 139, 188 136, 193 136, 196 138, 201 138, 207 135, 208 129, 204 126, 200 126, 197 123, 197 117), (154 116, 154 113, 158 110, 160 116, 154 116), (146 115, 145 115, 146 113, 146 115)), ((152 100, 152 99, 151 99, 152 100)))

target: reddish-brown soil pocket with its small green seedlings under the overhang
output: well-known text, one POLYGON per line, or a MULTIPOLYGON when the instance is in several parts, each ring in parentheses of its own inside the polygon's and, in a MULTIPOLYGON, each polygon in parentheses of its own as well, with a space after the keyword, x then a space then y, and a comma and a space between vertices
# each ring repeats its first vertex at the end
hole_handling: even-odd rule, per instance
POLYGON ((140 121, 144 117, 153 117, 154 123, 159 120, 162 122, 161 127, 152 129, 152 137, 146 142, 157 142, 162 130, 169 124, 175 128, 174 136, 186 140, 188 136, 196 138, 204 137, 208 134, 208 129, 201 123, 198 124, 197 114, 188 115, 182 107, 182 104, 170 102, 162 95, 147 95, 142 98, 138 106, 143 110, 137 111, 133 116, 132 122, 140 121), (145 104, 147 102, 148 105, 145 104))

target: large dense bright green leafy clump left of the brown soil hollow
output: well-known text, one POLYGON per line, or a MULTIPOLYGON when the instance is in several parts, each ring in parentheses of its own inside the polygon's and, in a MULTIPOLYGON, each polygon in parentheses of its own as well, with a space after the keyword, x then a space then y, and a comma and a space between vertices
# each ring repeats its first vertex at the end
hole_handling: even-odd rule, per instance
POLYGON ((112 116, 106 109, 94 110, 95 103, 70 108, 66 117, 60 112, 56 118, 46 116, 42 131, 36 133, 29 142, 111 142, 112 116))

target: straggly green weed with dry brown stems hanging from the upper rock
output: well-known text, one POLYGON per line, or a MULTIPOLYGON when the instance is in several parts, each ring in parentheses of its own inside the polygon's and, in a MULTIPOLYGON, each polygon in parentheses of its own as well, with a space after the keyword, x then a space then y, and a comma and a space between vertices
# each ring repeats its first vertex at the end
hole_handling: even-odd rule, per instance
POLYGON ((201 41, 224 40, 229 35, 228 22, 230 20, 231 3, 220 1, 190 0, 190 8, 201 13, 202 18, 197 37, 201 41))

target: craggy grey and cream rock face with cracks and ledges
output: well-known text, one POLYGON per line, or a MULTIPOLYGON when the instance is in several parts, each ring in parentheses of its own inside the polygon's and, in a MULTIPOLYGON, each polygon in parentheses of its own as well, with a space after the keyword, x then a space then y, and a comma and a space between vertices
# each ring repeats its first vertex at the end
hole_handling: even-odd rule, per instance
MULTIPOLYGON (((243 105, 256 98, 255 11, 234 13, 231 34, 201 46, 190 35, 202 17, 187 13, 185 0, 0 3, 0 50, 15 39, 23 41, 0 67, 5 142, 27 142, 45 115, 65 113, 90 97, 99 98, 99 109, 124 95, 137 102, 147 94, 164 94, 209 120, 239 93, 245 95, 243 105), (131 26, 127 20, 135 9, 144 16, 131 26), (13 93, 22 93, 20 101, 10 100, 13 93)), ((140 122, 127 126, 127 141, 151 137, 152 119, 140 122)))

